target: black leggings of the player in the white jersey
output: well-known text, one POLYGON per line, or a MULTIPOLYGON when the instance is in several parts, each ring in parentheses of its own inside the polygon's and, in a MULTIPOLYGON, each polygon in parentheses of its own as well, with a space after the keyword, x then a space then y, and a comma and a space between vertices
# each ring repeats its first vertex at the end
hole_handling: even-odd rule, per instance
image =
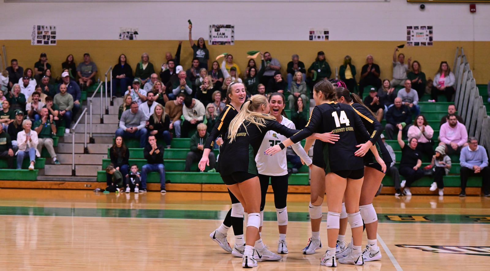
POLYGON ((276 209, 282 209, 286 207, 286 200, 288 198, 288 175, 283 176, 268 176, 259 174, 260 191, 262 193, 262 199, 260 201, 260 210, 263 211, 266 205, 267 188, 270 184, 274 191, 274 205, 276 209))

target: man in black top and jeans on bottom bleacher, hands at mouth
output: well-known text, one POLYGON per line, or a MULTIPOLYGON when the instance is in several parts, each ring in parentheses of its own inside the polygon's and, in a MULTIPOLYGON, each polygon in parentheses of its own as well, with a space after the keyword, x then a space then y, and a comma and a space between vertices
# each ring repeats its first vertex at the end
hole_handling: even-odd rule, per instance
POLYGON ((155 136, 148 136, 148 144, 143 153, 147 164, 143 166, 141 171, 141 191, 147 190, 147 174, 150 172, 158 172, 160 174, 160 192, 167 193, 165 190, 165 166, 163 165, 164 148, 158 145, 155 136))

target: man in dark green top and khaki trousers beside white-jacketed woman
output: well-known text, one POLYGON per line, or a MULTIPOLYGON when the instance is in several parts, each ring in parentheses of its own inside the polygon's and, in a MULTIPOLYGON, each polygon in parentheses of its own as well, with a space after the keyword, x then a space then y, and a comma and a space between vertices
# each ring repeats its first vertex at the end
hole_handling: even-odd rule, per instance
POLYGON ((41 153, 43 146, 49 152, 49 156, 53 159, 55 165, 59 165, 60 161, 56 158, 56 153, 53 147, 53 135, 56 135, 56 124, 53 121, 53 116, 49 115, 48 109, 41 109, 41 119, 36 120, 32 124, 32 129, 36 131, 38 137, 37 150, 41 153))

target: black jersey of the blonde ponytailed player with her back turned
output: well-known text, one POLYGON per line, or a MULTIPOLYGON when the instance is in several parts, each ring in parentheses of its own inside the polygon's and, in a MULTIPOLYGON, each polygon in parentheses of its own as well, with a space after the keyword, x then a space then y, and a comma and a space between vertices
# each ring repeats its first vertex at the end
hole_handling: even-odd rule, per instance
POLYGON ((223 146, 221 146, 220 153, 221 176, 230 175, 237 171, 257 175, 258 172, 255 157, 257 156, 257 152, 259 151, 264 136, 270 130, 288 137, 299 132, 298 130, 289 129, 276 120, 266 119, 266 126, 260 128, 255 124, 244 121, 238 129, 233 142, 230 143, 228 133, 223 137, 224 143, 223 146), (246 130, 244 125, 246 125, 246 130))

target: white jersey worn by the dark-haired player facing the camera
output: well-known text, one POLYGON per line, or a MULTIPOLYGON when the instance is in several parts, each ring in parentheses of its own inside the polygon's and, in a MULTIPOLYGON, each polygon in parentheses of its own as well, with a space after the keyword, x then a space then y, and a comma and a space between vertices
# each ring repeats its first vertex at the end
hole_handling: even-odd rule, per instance
MULTIPOLYGON (((294 123, 286 117, 282 117, 281 124, 290 128, 296 129, 294 123)), ((273 156, 265 155, 264 152, 274 145, 281 143, 282 141, 288 139, 286 136, 278 134, 274 131, 267 132, 266 136, 264 136, 264 140, 262 140, 262 144, 260 145, 259 152, 255 157, 255 162, 257 163, 257 170, 259 174, 267 175, 267 176, 283 176, 288 174, 288 162, 286 160, 286 149, 274 154, 273 156)), ((312 163, 311 158, 305 152, 300 142, 291 145, 294 152, 301 158, 303 161, 310 165, 312 163)))

